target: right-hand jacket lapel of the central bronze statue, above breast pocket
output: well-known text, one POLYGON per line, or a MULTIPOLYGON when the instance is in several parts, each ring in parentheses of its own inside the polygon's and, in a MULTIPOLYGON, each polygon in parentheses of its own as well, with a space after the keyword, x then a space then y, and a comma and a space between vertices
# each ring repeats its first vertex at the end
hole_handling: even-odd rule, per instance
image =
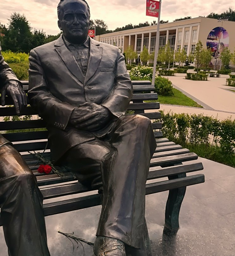
POLYGON ((87 65, 87 73, 85 76, 84 84, 86 84, 95 74, 99 67, 103 54, 103 48, 99 46, 99 42, 90 38, 90 57, 87 65))

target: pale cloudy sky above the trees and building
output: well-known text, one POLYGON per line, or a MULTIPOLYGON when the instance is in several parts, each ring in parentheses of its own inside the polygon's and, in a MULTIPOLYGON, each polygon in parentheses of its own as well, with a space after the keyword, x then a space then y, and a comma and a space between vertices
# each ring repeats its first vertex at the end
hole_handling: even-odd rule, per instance
MULTIPOLYGON (((57 4, 59 0, 0 0, 0 22, 8 23, 10 14, 14 11, 25 14, 31 26, 43 29, 46 34, 55 35, 59 32, 57 27, 57 4)), ((104 20, 109 29, 116 29, 126 24, 139 24, 151 22, 153 17, 145 16, 145 0, 87 0, 91 9, 92 19, 104 20)), ((189 1, 189 0, 163 0, 161 19, 173 21, 185 16, 207 16, 211 12, 221 13, 235 2, 231 0, 189 1)))

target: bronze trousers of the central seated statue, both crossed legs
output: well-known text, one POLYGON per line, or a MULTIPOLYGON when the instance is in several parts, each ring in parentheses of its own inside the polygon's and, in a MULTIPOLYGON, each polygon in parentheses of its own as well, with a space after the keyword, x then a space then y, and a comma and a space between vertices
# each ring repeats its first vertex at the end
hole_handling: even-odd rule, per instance
POLYGON ((96 235, 123 241, 133 251, 127 255, 152 255, 145 184, 155 149, 151 121, 136 115, 120 118, 104 138, 79 144, 64 156, 79 182, 103 192, 96 235))

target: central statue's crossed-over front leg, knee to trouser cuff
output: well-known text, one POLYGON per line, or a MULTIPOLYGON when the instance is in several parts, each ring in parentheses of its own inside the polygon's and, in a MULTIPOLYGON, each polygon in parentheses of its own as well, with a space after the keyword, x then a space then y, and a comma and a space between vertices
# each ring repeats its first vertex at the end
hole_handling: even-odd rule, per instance
POLYGON ((140 248, 145 184, 156 148, 151 121, 140 115, 121 118, 109 143, 115 152, 102 163, 104 199, 97 235, 140 248))

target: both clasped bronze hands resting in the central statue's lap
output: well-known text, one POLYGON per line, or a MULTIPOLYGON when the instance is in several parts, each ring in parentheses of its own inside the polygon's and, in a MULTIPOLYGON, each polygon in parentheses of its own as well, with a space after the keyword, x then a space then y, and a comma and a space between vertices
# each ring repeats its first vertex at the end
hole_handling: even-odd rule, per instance
POLYGON ((70 124, 80 131, 98 131, 111 120, 111 112, 95 103, 84 103, 76 107, 70 118, 70 124))

